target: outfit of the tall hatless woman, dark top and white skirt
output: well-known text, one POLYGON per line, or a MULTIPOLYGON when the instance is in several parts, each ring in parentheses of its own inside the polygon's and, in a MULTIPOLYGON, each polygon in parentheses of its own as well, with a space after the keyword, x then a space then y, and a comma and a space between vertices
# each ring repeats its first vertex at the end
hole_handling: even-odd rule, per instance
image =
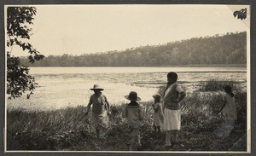
POLYGON ((170 85, 164 94, 164 130, 180 130, 181 111, 177 100, 178 95, 184 90, 177 84, 170 85), (173 107, 174 106, 174 107, 173 107), (175 109, 172 109, 175 108, 175 109))

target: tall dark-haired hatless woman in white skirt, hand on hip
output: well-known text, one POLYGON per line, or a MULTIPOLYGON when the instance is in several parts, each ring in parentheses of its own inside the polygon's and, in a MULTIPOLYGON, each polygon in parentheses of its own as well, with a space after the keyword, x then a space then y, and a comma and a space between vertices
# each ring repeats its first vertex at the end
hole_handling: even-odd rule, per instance
POLYGON ((168 83, 164 90, 164 124, 166 130, 165 146, 173 146, 177 143, 177 133, 180 130, 181 111, 180 101, 186 96, 184 90, 177 84, 177 73, 169 72, 167 74, 168 83), (172 144, 171 144, 172 137, 172 144))

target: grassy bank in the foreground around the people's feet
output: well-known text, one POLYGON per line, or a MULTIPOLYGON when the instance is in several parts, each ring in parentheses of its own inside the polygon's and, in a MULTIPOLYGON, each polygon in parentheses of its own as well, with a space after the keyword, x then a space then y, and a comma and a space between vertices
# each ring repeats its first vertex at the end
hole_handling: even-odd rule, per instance
MULTIPOLYGON (((230 136, 220 138, 213 131, 223 121, 221 113, 213 113, 222 104, 222 95, 195 91, 182 101, 182 129, 179 142, 171 148, 161 147, 165 133, 154 133, 151 101, 142 103, 145 118, 142 125, 143 151, 228 151, 247 129, 247 93, 236 92, 238 119, 230 136)), ((15 108, 7 111, 8 142, 18 142, 8 150, 125 151, 130 141, 123 113, 125 104, 111 106, 110 128, 100 140, 84 116, 86 107, 67 107, 51 111, 28 111, 15 108)), ((246 151, 246 149, 244 149, 246 151)))

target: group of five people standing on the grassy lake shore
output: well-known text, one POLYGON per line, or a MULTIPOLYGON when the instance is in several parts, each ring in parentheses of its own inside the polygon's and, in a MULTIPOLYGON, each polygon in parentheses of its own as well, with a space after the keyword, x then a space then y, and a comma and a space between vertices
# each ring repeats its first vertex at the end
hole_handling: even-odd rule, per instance
MULTIPOLYGON (((183 88, 177 84, 177 73, 169 72, 167 74, 167 84, 162 95, 155 94, 154 104, 152 105, 154 114, 154 130, 166 131, 166 141, 164 146, 171 147, 177 143, 178 131, 181 128, 181 104, 180 101, 186 96, 183 88)), ((100 85, 95 84, 93 90, 95 94, 90 96, 90 101, 87 106, 87 115, 92 107, 91 120, 96 128, 96 137, 100 137, 100 130, 108 127, 108 115, 110 113, 109 103, 107 97, 102 94, 100 85)), ((236 120, 236 104, 235 97, 232 93, 230 85, 224 87, 226 95, 224 95, 224 104, 218 112, 224 110, 224 116, 227 123, 234 123, 236 120)), ((127 124, 131 130, 130 150, 137 150, 141 147, 140 127, 143 120, 143 108, 138 103, 141 98, 138 97, 137 92, 131 91, 125 98, 130 101, 125 106, 124 117, 127 118, 127 124)))

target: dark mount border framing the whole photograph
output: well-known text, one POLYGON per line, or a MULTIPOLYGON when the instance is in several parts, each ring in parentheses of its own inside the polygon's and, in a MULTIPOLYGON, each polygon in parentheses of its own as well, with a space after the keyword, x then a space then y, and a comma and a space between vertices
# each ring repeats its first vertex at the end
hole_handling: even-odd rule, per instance
MULTIPOLYGON (((255 56, 255 9, 256 9, 256 3, 253 0, 173 0, 173 1, 168 1, 168 0, 158 0, 158 1, 153 1, 153 0, 142 0, 142 1, 131 1, 131 0, 122 0, 122 1, 114 1, 114 0, 105 0, 105 1, 93 1, 93 0, 3 0, 0 2, 1 3, 1 8, 0 8, 0 12, 1 12, 1 24, 0 24, 0 29, 1 29, 1 35, 0 35, 0 49, 1 49, 1 56, 0 56, 0 61, 1 61, 1 69, 0 69, 0 75, 1 75, 1 81, 0 81, 0 85, 1 85, 1 92, 0 92, 0 110, 1 110, 1 116, 0 116, 0 155, 105 155, 105 154, 124 154, 124 155, 128 155, 128 154, 143 154, 143 155, 150 155, 150 154, 173 154, 173 155, 186 155, 186 154, 195 154, 196 155, 203 155, 203 154, 209 154, 209 153, 218 153, 218 155, 220 153, 224 154, 225 152, 105 152, 105 151, 95 151, 95 152, 63 152, 63 151, 53 151, 53 152, 47 152, 45 153, 44 151, 42 151, 42 153, 38 153, 38 152, 15 152, 15 153, 5 153, 5 121, 6 121, 6 116, 5 116, 5 31, 4 31, 4 17, 5 15, 4 13, 4 5, 38 5, 38 4, 237 4, 237 5, 251 5, 251 20, 250 20, 250 24, 251 24, 251 28, 250 28, 250 42, 251 43, 247 43, 249 44, 249 50, 250 51, 250 57, 247 57, 247 65, 248 66, 247 70, 250 70, 250 76, 251 78, 247 78, 247 83, 248 80, 250 80, 250 84, 251 86, 247 86, 250 87, 249 90, 251 90, 251 107, 247 107, 247 110, 251 110, 251 118, 247 119, 247 123, 250 124, 251 127, 251 147, 249 147, 249 149, 251 150, 251 154, 255 153, 255 124, 251 124, 251 123, 255 123, 255 74, 256 74, 256 70, 254 69, 256 66, 256 56, 255 56), (250 59, 250 60, 249 60, 250 59), (248 62, 249 61, 249 62, 248 62), (250 123, 251 122, 251 123, 250 123)), ((248 48, 248 47, 247 47, 248 48)), ((248 97, 248 96, 247 96, 248 97)), ((247 100, 247 101, 248 101, 247 100)), ((247 115, 248 116, 248 115, 247 115)), ((239 152, 229 152, 229 153, 233 153, 233 154, 238 154, 239 152)), ((243 153, 244 154, 250 154, 250 153, 243 153)))

